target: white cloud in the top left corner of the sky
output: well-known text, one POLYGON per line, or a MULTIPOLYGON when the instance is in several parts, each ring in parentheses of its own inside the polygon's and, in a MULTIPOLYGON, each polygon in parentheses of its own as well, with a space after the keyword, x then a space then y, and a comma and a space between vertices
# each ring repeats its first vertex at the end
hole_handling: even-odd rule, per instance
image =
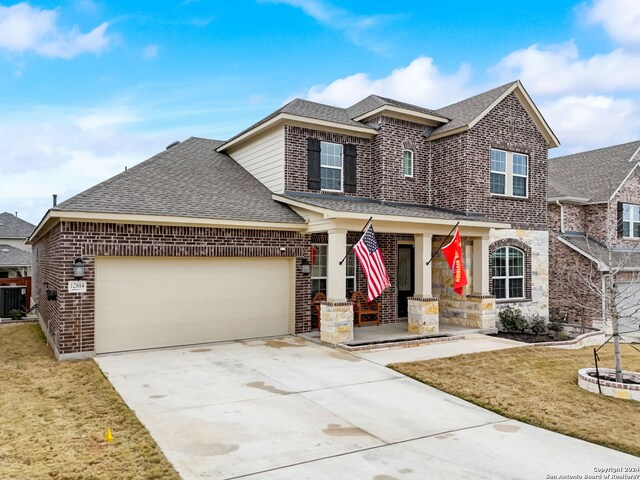
POLYGON ((68 59, 87 52, 99 53, 109 45, 108 23, 81 33, 77 27, 65 31, 57 22, 56 10, 43 10, 28 3, 0 6, 0 49, 68 59))

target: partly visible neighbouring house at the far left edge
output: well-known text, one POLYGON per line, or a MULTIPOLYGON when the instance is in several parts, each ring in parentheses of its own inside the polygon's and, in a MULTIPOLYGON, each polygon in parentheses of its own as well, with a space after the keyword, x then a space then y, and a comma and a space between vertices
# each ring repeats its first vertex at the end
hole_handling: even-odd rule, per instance
POLYGON ((11 213, 0 213, 0 278, 31 276, 31 245, 24 242, 34 228, 11 213))

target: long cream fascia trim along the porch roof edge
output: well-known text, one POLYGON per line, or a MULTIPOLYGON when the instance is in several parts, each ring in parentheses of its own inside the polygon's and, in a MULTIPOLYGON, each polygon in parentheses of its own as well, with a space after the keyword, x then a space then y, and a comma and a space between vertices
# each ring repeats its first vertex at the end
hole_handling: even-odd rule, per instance
POLYGON ((288 205, 310 210, 312 212, 320 213, 325 219, 336 218, 349 218, 349 219, 362 219, 368 220, 373 217, 373 220, 385 221, 385 222, 398 222, 398 223, 424 223, 435 225, 450 225, 453 226, 456 223, 460 223, 461 227, 483 227, 483 228, 495 228, 495 229, 507 229, 511 228, 509 223, 498 222, 482 222, 476 220, 455 220, 455 219, 442 219, 442 218, 423 218, 423 217, 405 217, 400 215, 385 215, 385 214, 369 214, 360 212, 341 212, 338 210, 331 210, 329 208, 318 207, 317 205, 309 205, 308 203, 299 202, 290 198, 281 197, 277 194, 272 195, 274 200, 278 202, 286 203, 288 205))

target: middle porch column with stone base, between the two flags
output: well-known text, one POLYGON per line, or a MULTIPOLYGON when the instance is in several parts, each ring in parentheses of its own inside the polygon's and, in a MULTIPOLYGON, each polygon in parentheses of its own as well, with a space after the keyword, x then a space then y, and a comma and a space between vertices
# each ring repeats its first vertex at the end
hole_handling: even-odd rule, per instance
POLYGON ((430 234, 416 234, 415 241, 415 292, 409 299, 408 329, 411 333, 428 335, 438 333, 438 300, 431 291, 430 234))

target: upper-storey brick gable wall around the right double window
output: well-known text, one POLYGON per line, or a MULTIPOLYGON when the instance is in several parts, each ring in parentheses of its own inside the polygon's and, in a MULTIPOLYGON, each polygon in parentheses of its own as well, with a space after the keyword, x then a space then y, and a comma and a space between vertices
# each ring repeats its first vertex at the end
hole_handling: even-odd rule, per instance
POLYGON ((515 94, 472 129, 433 142, 433 205, 483 213, 515 228, 547 228, 547 144, 515 94), (490 150, 529 155, 529 197, 492 196, 490 150))

